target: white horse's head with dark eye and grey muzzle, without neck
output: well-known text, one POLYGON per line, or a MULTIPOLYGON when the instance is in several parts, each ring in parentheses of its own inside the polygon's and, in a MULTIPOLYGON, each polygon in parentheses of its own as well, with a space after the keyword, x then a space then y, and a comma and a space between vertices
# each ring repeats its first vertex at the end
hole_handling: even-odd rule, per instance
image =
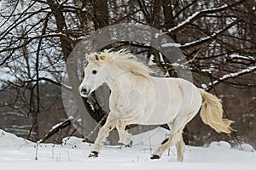
POLYGON ((102 54, 89 54, 86 59, 88 65, 84 68, 84 80, 79 86, 79 93, 85 98, 106 82, 108 65, 106 57, 102 54))

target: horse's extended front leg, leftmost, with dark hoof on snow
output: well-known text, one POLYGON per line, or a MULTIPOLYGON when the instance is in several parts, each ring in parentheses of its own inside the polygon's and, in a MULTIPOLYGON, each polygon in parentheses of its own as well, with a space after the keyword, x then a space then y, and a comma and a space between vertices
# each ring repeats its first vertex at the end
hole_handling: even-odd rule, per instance
POLYGON ((93 144, 93 150, 90 151, 89 157, 97 157, 99 154, 99 150, 101 150, 102 142, 108 137, 109 132, 116 127, 116 118, 108 115, 107 121, 104 126, 100 129, 95 143, 93 144))

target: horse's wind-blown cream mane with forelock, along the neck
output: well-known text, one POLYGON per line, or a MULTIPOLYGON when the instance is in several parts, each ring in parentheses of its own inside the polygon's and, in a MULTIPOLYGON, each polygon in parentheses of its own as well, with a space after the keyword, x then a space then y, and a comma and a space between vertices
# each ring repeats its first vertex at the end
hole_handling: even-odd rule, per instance
POLYGON ((86 56, 87 60, 93 61, 96 64, 109 62, 113 65, 118 66, 124 71, 131 71, 135 75, 149 78, 149 73, 154 73, 148 66, 143 65, 137 58, 128 53, 125 49, 119 51, 112 51, 112 49, 104 50, 99 53, 92 53, 86 56))

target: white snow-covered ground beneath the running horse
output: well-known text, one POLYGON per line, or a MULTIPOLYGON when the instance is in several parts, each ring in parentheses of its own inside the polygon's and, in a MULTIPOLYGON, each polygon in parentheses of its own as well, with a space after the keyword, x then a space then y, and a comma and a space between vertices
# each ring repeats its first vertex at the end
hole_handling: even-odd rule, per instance
POLYGON ((150 160, 150 154, 165 138, 166 130, 156 128, 134 136, 132 148, 103 146, 98 158, 88 158, 91 145, 82 139, 71 137, 63 139, 63 144, 38 144, 37 150, 37 144, 0 130, 0 169, 256 170, 256 152, 249 144, 243 144, 244 150, 231 149, 226 142, 213 142, 208 147, 186 146, 184 162, 177 162, 176 149, 172 147, 160 160, 150 160))

